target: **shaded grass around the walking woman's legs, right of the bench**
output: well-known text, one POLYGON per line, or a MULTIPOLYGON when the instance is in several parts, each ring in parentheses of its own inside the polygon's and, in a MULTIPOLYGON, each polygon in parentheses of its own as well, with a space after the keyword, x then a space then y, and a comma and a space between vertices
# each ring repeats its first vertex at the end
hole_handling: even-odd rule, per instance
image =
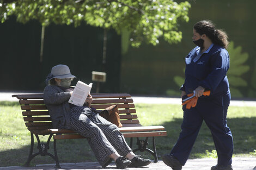
MULTIPOLYGON (((178 140, 181 132, 181 123, 182 118, 174 118, 174 121, 162 124, 166 128, 168 136, 157 138, 156 144, 159 154, 170 152, 176 140, 178 140)), ((256 149, 256 117, 228 118, 227 124, 233 134, 234 154, 249 154, 256 149)), ((205 150, 211 152, 213 149, 215 149, 215 146, 212 135, 205 122, 203 122, 196 143, 193 146, 191 158, 205 156, 205 150)))

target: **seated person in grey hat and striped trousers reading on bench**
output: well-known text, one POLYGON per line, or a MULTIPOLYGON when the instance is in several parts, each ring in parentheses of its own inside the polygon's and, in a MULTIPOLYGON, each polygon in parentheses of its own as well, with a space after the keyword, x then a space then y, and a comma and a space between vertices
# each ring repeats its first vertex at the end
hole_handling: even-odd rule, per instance
POLYGON ((108 122, 90 108, 91 95, 83 106, 68 103, 75 75, 66 65, 52 67, 46 78, 44 102, 52 118, 53 128, 71 129, 88 138, 96 159, 105 168, 112 159, 117 168, 147 166, 151 161, 135 155, 117 125, 108 122), (122 155, 122 156, 121 156, 122 155))

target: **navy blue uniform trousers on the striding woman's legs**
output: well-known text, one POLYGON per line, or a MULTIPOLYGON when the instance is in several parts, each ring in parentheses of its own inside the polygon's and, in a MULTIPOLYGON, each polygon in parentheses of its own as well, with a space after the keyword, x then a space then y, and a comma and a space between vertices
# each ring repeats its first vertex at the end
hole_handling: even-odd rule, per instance
POLYGON ((218 165, 230 165, 233 155, 233 137, 226 120, 229 102, 230 93, 205 99, 199 98, 195 108, 186 109, 184 105, 182 131, 170 155, 185 165, 204 120, 214 139, 218 165))

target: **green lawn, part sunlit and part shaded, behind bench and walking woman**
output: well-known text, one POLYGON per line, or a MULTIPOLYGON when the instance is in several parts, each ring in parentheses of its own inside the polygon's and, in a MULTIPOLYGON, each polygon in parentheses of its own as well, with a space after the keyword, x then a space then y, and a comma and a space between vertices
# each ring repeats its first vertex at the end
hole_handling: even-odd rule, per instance
MULTIPOLYGON (((156 147, 159 157, 164 153, 169 153, 180 133, 183 115, 181 106, 136 104, 136 110, 141 124, 163 125, 166 128, 168 136, 156 137, 156 147)), ((21 166, 27 160, 31 137, 23 121, 20 105, 17 102, 0 102, 0 117, 0 166, 21 166)), ((256 156, 255 122, 255 107, 230 106, 228 125, 234 137, 235 157, 256 156)), ((42 141, 46 142, 47 136, 44 136, 42 141)), ((129 138, 127 138, 127 142, 129 143, 129 138)), ((34 149, 36 147, 35 143, 34 149)), ((135 147, 136 140, 133 141, 133 148, 135 147)), ((149 140, 150 147, 151 141, 149 140)), ((50 148, 53 148, 53 142, 51 142, 50 148)), ((190 158, 215 157, 215 152, 212 152, 214 149, 210 131, 203 123, 190 158)), ((60 163, 96 161, 86 139, 58 140, 57 151, 60 163)), ((53 153, 53 149, 50 149, 49 152, 53 153)), ((31 165, 45 163, 54 163, 54 161, 50 156, 36 156, 31 165)))

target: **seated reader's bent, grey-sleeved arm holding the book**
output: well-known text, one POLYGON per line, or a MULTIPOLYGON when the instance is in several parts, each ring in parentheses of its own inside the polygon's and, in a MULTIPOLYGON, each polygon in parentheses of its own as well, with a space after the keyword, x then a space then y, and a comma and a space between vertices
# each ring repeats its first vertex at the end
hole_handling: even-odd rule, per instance
POLYGON ((69 100, 71 92, 57 92, 52 86, 46 86, 44 90, 45 104, 61 104, 69 100))

